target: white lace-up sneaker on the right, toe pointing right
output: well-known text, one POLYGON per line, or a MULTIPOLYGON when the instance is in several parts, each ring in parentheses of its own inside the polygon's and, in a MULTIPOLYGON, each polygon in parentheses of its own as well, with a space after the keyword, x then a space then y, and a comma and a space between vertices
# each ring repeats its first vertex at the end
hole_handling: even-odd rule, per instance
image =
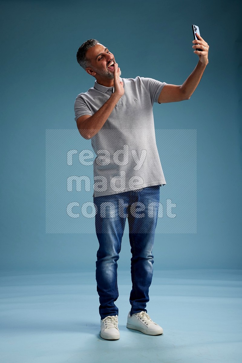
POLYGON ((145 311, 130 315, 128 313, 127 328, 139 330, 144 334, 160 335, 163 329, 158 324, 154 323, 145 311))

